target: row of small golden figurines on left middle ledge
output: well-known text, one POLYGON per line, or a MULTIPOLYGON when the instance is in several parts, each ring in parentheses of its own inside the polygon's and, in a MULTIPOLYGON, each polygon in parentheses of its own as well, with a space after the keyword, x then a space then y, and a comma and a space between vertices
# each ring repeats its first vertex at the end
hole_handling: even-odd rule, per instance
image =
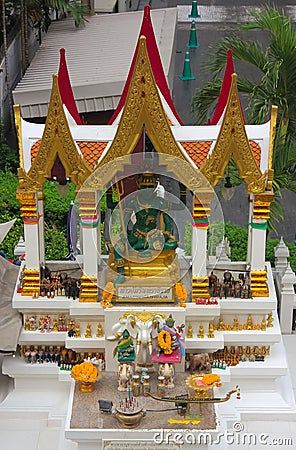
MULTIPOLYGON (((66 317, 64 314, 58 315, 58 317, 51 318, 48 314, 39 315, 32 314, 30 316, 26 316, 24 328, 26 331, 40 331, 43 332, 51 332, 51 331, 67 331, 69 337, 81 337, 81 329, 80 325, 75 322, 71 317, 66 317)), ((96 330, 96 337, 101 338, 104 336, 104 331, 102 324, 99 322, 96 330)), ((92 338, 92 328, 88 323, 86 325, 84 337, 92 338)))

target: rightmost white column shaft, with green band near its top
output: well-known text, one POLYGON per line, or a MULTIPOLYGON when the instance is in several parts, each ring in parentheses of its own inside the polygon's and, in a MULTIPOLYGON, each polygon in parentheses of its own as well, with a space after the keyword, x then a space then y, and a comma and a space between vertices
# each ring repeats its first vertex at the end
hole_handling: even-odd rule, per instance
POLYGON ((266 229, 256 228, 264 225, 265 219, 253 219, 250 264, 251 270, 265 270, 266 229))

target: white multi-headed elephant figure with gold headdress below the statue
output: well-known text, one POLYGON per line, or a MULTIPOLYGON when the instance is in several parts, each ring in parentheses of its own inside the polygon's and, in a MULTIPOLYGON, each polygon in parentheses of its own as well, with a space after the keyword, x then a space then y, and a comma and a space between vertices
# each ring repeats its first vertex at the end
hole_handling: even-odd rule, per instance
POLYGON ((107 339, 118 339, 127 329, 132 338, 136 340, 136 363, 139 370, 143 367, 152 367, 152 339, 157 337, 165 320, 166 316, 162 313, 128 312, 113 325, 113 336, 108 336, 107 339))

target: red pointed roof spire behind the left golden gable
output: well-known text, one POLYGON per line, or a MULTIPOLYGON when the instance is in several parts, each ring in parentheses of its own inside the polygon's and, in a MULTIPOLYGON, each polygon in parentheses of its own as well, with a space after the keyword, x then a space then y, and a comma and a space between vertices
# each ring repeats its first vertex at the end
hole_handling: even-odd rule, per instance
POLYGON ((77 125, 82 125, 82 121, 77 110, 77 106, 74 100, 74 95, 70 83, 64 48, 60 49, 60 67, 58 73, 58 85, 63 104, 66 106, 66 108, 68 109, 69 113, 71 114, 77 125))

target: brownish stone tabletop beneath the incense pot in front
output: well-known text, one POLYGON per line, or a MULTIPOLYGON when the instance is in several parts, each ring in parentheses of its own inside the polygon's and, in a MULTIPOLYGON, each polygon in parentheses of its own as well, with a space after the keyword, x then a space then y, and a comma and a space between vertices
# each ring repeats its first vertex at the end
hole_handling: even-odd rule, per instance
MULTIPOLYGON (((151 393, 157 395, 157 373, 151 374, 151 393)), ((166 397, 187 395, 188 387, 186 378, 189 372, 177 373, 175 376, 175 388, 165 390, 166 397)), ((73 381, 73 396, 70 398, 68 418, 70 420, 69 431, 82 429, 120 429, 121 425, 111 415, 99 410, 98 400, 109 400, 113 408, 118 405, 119 400, 127 396, 127 392, 117 390, 117 374, 115 372, 103 372, 101 380, 95 383, 93 392, 84 393, 79 391, 78 383, 73 381)), ((190 391, 193 397, 194 392, 190 391)), ((157 430, 157 429, 190 429, 190 430, 217 430, 215 406, 211 404, 202 405, 202 416, 200 416, 199 405, 190 405, 190 417, 184 417, 177 413, 174 402, 157 401, 143 395, 137 397, 139 404, 147 411, 146 416, 133 430, 157 430)), ((126 431, 127 429, 124 428, 126 431)))

